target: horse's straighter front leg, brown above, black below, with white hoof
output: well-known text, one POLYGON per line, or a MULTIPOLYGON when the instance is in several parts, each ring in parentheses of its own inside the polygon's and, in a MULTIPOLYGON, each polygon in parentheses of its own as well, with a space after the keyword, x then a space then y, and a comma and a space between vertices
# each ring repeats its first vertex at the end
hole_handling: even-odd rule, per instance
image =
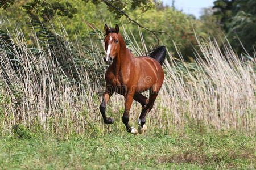
POLYGON ((123 113, 123 124, 126 126, 126 130, 132 134, 137 134, 138 130, 134 127, 131 127, 128 122, 129 122, 129 112, 131 108, 131 104, 133 103, 133 96, 134 92, 127 92, 127 95, 125 97, 125 112, 123 113))

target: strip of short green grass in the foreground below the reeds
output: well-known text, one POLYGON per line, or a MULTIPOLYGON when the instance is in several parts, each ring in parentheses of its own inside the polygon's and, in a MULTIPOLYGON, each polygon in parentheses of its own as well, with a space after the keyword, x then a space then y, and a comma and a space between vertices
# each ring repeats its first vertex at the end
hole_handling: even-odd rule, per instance
POLYGON ((255 135, 235 132, 60 139, 47 134, 0 138, 0 169, 215 169, 255 166, 255 135))

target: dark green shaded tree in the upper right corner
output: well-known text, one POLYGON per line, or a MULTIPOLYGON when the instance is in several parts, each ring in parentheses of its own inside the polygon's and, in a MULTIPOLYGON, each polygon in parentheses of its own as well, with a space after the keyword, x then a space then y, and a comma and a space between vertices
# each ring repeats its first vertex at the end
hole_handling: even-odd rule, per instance
POLYGON ((256 45, 256 1, 254 0, 218 0, 214 2, 217 17, 222 28, 228 33, 230 44, 238 53, 243 52, 243 46, 253 54, 256 45), (241 42, 240 42, 241 40, 241 42))

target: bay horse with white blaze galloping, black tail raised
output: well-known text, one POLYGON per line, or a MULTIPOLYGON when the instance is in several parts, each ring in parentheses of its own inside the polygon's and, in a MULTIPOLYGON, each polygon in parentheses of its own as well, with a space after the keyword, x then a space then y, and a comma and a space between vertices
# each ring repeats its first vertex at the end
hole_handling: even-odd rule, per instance
POLYGON ((118 25, 109 28, 105 24, 105 50, 104 61, 109 64, 105 73, 106 89, 100 104, 100 112, 105 124, 113 124, 112 117, 106 117, 106 104, 114 92, 125 97, 125 112, 122 116, 123 124, 129 133, 144 133, 147 130, 147 113, 151 111, 158 92, 164 80, 162 69, 166 55, 166 48, 160 46, 150 56, 134 57, 126 48, 125 41, 119 33, 118 25), (150 90, 149 99, 141 93, 150 90), (141 116, 138 119, 138 130, 131 127, 129 122, 129 111, 133 99, 142 105, 141 116))

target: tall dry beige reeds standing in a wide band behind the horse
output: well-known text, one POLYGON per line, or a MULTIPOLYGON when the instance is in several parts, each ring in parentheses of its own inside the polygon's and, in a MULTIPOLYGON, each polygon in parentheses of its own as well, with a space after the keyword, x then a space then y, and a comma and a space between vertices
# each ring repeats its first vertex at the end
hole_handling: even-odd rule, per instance
MULTIPOLYGON (((2 36, 0 39, 0 128, 3 131, 11 133, 15 124, 23 124, 31 130, 59 135, 103 134, 109 128, 125 133, 121 121, 123 96, 114 94, 109 101, 106 113, 115 119, 110 127, 104 125, 98 110, 108 67, 103 61, 101 32, 96 34, 100 43, 91 40, 88 47, 81 46, 79 40, 69 42, 63 29, 60 35, 65 43, 57 42, 58 48, 52 48, 47 40, 42 45, 36 30, 30 40, 21 31, 17 32, 9 33, 9 42, 2 36)), ((125 30, 122 35, 135 56, 150 50, 144 45, 142 34, 141 42, 136 42, 132 34, 130 38, 125 30)), ((186 128, 255 131, 255 59, 238 58, 229 45, 222 52, 214 41, 197 42, 200 51, 195 51, 194 63, 178 61, 167 53, 163 66, 166 77, 148 114, 146 124, 150 131, 147 133, 186 128)), ((134 101, 131 124, 136 124, 140 113, 141 105, 134 101)))

